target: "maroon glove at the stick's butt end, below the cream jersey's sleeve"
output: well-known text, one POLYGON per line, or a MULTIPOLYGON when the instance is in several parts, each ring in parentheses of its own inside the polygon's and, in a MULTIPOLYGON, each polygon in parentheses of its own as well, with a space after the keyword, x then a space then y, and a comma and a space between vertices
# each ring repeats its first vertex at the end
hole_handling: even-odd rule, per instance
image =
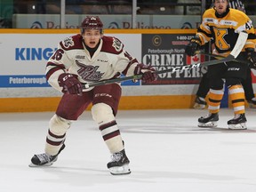
POLYGON ((83 94, 82 84, 74 74, 60 74, 58 83, 60 87, 63 87, 62 92, 64 93, 68 92, 69 94, 77 94, 80 96, 83 94))

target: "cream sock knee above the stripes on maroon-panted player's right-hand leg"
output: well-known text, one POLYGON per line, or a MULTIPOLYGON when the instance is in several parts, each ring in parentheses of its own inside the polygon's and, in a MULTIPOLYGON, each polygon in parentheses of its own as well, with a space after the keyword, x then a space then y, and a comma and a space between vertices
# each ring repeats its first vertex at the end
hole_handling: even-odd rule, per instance
POLYGON ((92 106, 92 118, 97 124, 106 124, 115 120, 112 108, 105 103, 92 106))

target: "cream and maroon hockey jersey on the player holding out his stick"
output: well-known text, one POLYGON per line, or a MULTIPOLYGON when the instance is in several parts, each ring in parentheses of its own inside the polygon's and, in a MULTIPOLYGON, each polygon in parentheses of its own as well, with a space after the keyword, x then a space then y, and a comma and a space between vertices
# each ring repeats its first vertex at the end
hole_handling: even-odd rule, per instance
MULTIPOLYGON (((48 60, 46 78, 53 88, 61 92, 58 77, 61 73, 78 76, 81 83, 116 78, 120 74, 132 76, 138 60, 124 51, 124 44, 116 37, 102 36, 94 54, 85 48, 80 34, 61 41, 56 52, 48 60)), ((92 88, 87 89, 90 91, 92 88)))

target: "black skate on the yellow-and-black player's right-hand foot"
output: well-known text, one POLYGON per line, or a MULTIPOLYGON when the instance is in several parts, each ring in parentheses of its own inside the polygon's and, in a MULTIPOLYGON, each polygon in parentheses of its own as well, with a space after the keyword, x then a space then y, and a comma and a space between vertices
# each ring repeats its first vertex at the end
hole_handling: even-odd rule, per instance
POLYGON ((231 130, 246 130, 246 117, 245 114, 236 114, 233 119, 228 121, 228 129, 231 130))

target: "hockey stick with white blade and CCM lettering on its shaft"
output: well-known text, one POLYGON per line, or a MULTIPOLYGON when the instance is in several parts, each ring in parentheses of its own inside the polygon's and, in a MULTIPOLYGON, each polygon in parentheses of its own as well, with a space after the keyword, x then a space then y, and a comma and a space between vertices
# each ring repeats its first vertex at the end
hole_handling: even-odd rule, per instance
MULTIPOLYGON (((248 36, 248 34, 246 32, 244 32, 244 31, 240 32, 240 34, 236 40, 234 49, 232 50, 232 52, 230 52, 230 54, 226 58, 222 58, 220 60, 208 60, 208 61, 205 61, 202 63, 196 63, 196 64, 192 64, 192 65, 188 65, 188 66, 168 68, 165 70, 156 71, 155 73, 156 74, 163 74, 163 73, 168 73, 168 72, 173 73, 176 71, 187 70, 190 68, 198 68, 200 66, 210 66, 210 65, 215 65, 215 64, 222 63, 222 62, 228 62, 231 60, 235 60, 236 57, 238 56, 238 54, 242 51, 244 44, 246 42, 247 36, 248 36)), ((88 89, 90 87, 99 86, 99 85, 103 85, 103 84, 113 84, 113 83, 119 83, 119 82, 124 82, 124 81, 128 81, 128 80, 139 80, 139 79, 141 79, 141 77, 142 77, 142 75, 134 75, 134 76, 125 76, 122 78, 108 79, 108 80, 103 80, 103 81, 99 81, 99 82, 83 84, 83 88, 88 89)))

